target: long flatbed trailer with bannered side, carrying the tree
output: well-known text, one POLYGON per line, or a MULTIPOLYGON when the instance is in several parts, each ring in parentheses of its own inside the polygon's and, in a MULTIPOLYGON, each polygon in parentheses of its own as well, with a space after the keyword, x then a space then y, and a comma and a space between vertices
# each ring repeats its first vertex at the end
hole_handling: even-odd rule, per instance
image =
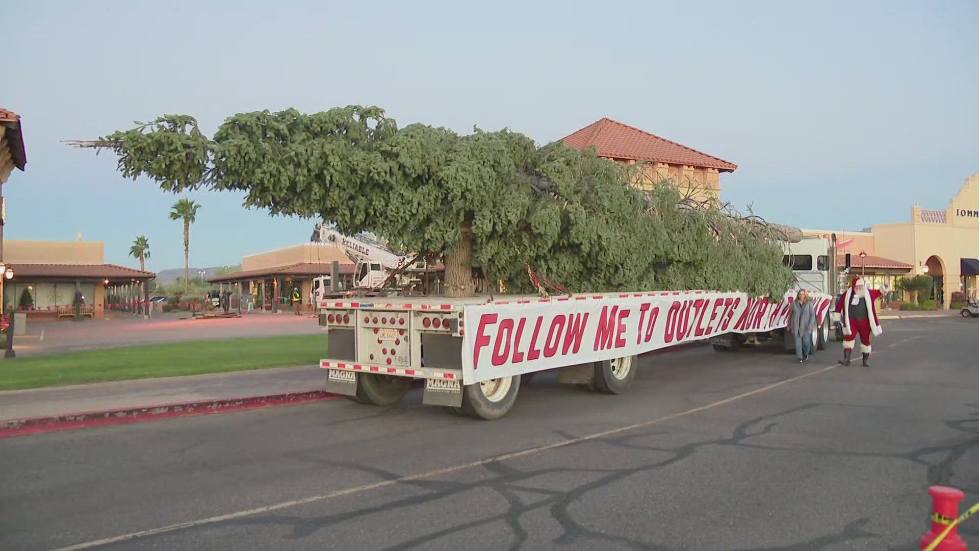
MULTIPOLYGON (((824 312, 830 297, 811 296, 824 312)), ((413 379, 424 379, 424 404, 497 419, 538 372, 620 394, 639 355, 781 330, 794 297, 694 290, 323 300, 319 323, 329 338, 320 367, 327 391, 359 403, 394 405, 413 379)))

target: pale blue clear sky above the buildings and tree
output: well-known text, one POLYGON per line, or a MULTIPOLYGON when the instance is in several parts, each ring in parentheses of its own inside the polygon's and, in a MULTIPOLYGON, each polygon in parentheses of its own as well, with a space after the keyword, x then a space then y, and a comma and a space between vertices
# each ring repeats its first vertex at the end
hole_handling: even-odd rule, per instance
MULTIPOLYGON (((539 143, 611 117, 736 163, 723 198, 859 229, 945 208, 979 171, 979 3, 9 2, 0 106, 27 170, 8 238, 106 242, 183 266, 177 197, 59 140, 163 114, 379 105, 399 125, 509 126, 539 143), (612 8, 615 11, 604 12, 612 8)), ((312 223, 201 192, 191 265, 308 239, 312 223)))

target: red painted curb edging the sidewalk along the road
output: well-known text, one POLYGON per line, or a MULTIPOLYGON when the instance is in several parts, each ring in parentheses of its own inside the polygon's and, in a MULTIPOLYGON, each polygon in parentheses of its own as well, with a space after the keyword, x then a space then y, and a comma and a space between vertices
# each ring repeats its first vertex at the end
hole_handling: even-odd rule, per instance
POLYGON ((247 396, 243 398, 223 398, 220 400, 205 400, 200 402, 183 402, 179 404, 164 404, 139 408, 125 408, 111 411, 84 412, 54 417, 39 417, 3 422, 0 425, 0 438, 46 432, 49 430, 66 430, 84 426, 116 425, 118 423, 135 423, 138 421, 154 421, 185 415, 204 415, 212 413, 251 410, 268 406, 286 404, 302 404, 338 398, 326 390, 308 390, 305 392, 287 392, 284 394, 269 394, 265 396, 247 396))

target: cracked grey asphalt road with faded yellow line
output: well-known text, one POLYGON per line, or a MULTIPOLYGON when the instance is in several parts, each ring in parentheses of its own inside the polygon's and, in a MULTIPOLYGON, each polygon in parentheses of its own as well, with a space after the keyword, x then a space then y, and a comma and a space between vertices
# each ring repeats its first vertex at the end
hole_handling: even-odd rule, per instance
POLYGON ((494 422, 411 395, 6 438, 0 548, 911 551, 929 485, 979 501, 979 321, 884 329, 868 369, 694 349, 494 422))

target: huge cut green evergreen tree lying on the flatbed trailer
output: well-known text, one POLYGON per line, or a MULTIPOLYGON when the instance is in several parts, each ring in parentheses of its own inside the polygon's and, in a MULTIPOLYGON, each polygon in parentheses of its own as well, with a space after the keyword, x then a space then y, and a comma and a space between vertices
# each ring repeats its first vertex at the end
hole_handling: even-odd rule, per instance
POLYGON ((624 167, 526 135, 398 128, 376 107, 306 115, 238 114, 212 138, 188 116, 165 116, 97 140, 126 177, 164 190, 245 192, 245 206, 372 231, 433 252, 451 296, 472 269, 508 290, 546 281, 574 292, 708 288, 780 296, 791 279, 765 225, 716 205, 689 208, 667 182, 629 185, 624 167), (533 276, 532 276, 533 275, 533 276))

